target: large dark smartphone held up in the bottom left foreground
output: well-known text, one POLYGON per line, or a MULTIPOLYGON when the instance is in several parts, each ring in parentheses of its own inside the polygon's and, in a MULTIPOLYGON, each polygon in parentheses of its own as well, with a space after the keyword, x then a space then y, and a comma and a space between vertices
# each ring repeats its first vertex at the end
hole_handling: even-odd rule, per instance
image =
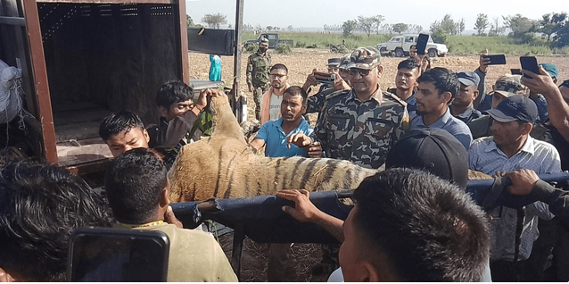
POLYGON ((158 230, 86 227, 70 236, 71 282, 160 282, 168 277, 169 238, 158 230))

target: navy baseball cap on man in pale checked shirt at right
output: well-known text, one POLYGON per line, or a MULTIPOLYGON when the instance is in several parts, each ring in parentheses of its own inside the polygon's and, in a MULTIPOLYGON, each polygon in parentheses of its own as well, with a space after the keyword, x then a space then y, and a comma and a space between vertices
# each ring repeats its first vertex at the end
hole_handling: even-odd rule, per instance
POLYGON ((533 123, 538 118, 538 107, 527 96, 508 96, 494 109, 486 111, 495 121, 524 121, 533 123))

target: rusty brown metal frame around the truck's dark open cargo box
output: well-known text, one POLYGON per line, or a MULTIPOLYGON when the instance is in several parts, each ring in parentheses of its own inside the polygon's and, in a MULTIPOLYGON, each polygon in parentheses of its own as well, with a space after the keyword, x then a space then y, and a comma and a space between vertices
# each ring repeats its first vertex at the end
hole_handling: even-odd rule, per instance
MULTIPOLYGON (((0 0, 2 1, 2 0, 0 0)), ((187 47, 187 32, 186 32, 186 1, 185 0, 4 0, 6 9, 16 10, 11 13, 3 13, 0 11, 0 24, 8 26, 21 26, 25 27, 27 38, 22 37, 24 45, 29 46, 29 50, 22 51, 29 58, 27 66, 22 66, 22 69, 30 68, 27 71, 31 85, 28 94, 28 108, 31 113, 37 117, 35 120, 27 120, 32 129, 37 130, 39 133, 39 159, 48 163, 58 163, 55 129, 54 129, 54 115, 52 112, 51 95, 49 91, 49 79, 45 66, 45 53, 42 42, 41 26, 39 15, 37 11, 38 3, 76 3, 76 4, 172 4, 173 9, 177 9, 178 31, 177 37, 179 46, 180 61, 177 66, 177 73, 181 80, 189 84, 189 63, 188 63, 188 47, 187 47), (18 15, 18 7, 21 5, 21 12, 18 15), (4 16, 4 15, 7 16, 4 16), (28 57, 29 56, 29 57, 28 57)), ((2 5, 0 5, 2 8, 2 5)), ((0 9, 1 10, 1 9, 0 9)), ((174 10, 175 12, 176 10, 174 10)), ((174 18, 176 19, 176 18, 174 18)), ((26 60, 27 62, 28 60, 26 60)), ((24 70, 22 70, 24 71, 24 70)), ((94 163, 84 163, 70 165, 68 170, 75 173, 87 173, 90 171, 97 171, 104 169, 108 160, 100 160, 94 163)))

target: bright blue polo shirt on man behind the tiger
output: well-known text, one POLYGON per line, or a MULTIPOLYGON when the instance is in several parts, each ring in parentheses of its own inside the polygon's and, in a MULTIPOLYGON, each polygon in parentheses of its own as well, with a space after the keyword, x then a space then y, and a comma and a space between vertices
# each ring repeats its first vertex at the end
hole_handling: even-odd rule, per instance
POLYGON ((289 134, 285 134, 282 125, 283 118, 281 117, 276 121, 267 121, 260 127, 257 137, 265 141, 265 155, 268 157, 292 157, 295 155, 308 157, 309 154, 298 146, 291 144, 289 149, 286 146, 286 140, 294 133, 304 133, 309 136, 314 129, 304 118, 302 118, 301 124, 289 134))

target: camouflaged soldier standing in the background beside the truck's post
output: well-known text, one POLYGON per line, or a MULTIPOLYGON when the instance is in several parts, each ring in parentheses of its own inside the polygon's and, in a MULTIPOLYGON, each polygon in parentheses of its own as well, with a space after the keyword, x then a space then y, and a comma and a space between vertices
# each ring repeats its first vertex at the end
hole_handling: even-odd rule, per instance
POLYGON ((268 71, 271 64, 270 54, 267 52, 268 39, 261 38, 256 54, 251 54, 247 61, 247 86, 253 93, 255 101, 255 117, 260 121, 260 98, 267 92, 268 71))

